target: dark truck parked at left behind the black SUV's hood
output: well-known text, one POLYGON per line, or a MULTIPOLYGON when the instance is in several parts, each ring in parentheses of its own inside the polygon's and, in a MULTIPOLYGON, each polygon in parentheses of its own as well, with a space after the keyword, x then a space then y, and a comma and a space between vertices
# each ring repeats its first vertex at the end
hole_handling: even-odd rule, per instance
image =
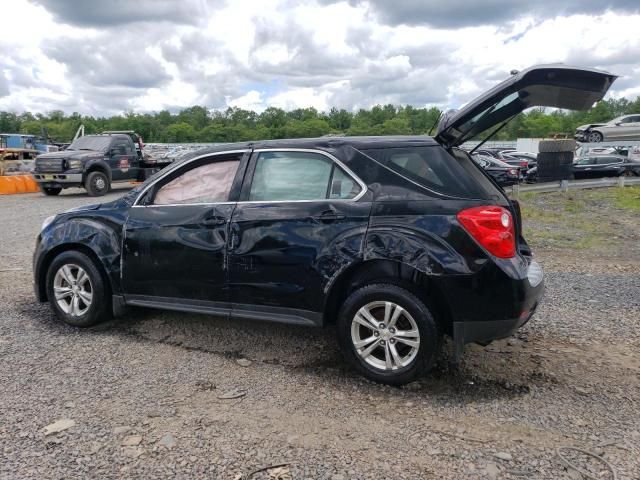
POLYGON ((144 180, 157 168, 144 164, 141 141, 131 132, 85 135, 66 150, 40 155, 33 178, 45 195, 69 187, 84 187, 90 196, 102 196, 114 182, 144 180))

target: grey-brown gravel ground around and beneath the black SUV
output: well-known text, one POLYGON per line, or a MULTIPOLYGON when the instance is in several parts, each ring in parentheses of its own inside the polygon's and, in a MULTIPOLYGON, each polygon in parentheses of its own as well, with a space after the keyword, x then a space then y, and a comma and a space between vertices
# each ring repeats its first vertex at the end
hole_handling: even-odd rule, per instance
POLYGON ((609 254, 543 245, 530 324, 399 389, 346 369, 332 330, 153 310, 59 323, 33 297, 35 236, 94 201, 0 197, 0 478, 579 479, 564 445, 640 478, 640 259, 619 254, 640 245, 637 213, 612 210, 626 230, 609 254))

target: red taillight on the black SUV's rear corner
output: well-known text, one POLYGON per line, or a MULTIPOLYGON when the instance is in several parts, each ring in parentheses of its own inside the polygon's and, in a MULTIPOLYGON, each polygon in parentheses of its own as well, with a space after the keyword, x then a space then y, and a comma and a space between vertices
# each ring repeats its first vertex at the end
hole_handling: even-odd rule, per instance
POLYGON ((495 205, 468 208, 458 213, 458 221, 491 255, 499 258, 516 255, 513 218, 506 208, 495 205))

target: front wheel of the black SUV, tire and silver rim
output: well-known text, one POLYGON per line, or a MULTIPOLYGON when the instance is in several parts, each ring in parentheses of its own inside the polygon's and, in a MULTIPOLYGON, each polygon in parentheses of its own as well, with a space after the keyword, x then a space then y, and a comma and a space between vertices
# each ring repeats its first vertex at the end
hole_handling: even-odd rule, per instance
POLYGON ((61 253, 49 266, 47 296, 56 316, 74 327, 90 327, 107 320, 111 310, 104 279, 82 252, 61 253))

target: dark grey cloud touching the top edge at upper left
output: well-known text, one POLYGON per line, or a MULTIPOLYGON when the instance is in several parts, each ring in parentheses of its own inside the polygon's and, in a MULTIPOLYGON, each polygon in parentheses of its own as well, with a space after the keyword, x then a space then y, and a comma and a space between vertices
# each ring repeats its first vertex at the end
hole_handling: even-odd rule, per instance
MULTIPOLYGON (((136 22, 194 24, 206 12, 203 0, 32 0, 57 21, 80 27, 109 28, 136 22)), ((222 3, 222 2, 219 2, 222 3)))

